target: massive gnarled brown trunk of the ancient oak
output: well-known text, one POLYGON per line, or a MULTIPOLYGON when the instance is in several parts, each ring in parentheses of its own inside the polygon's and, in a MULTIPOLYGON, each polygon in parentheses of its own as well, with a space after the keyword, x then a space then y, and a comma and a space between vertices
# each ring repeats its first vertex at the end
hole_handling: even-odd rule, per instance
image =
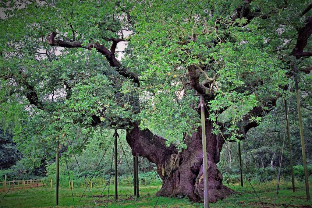
MULTIPOLYGON (((212 123, 207 121, 209 201, 216 202, 233 191, 222 185, 222 174, 217 168, 224 139, 211 134, 211 129, 212 123)), ((180 154, 173 146, 166 147, 163 138, 153 135, 149 130, 140 130, 136 124, 127 132, 127 142, 132 148, 133 155, 139 154, 156 164, 157 172, 163 181, 169 175, 167 182, 157 192, 157 196, 188 196, 192 201, 203 199, 201 128, 198 128, 192 136, 186 137, 185 143, 188 148, 180 154)))

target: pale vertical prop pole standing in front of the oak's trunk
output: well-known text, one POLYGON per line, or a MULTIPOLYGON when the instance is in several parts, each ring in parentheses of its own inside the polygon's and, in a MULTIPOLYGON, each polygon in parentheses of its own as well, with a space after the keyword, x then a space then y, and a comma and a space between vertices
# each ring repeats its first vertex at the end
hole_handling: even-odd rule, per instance
POLYGON ((204 207, 209 207, 209 193, 208 193, 208 171, 207 171, 207 149, 206 149, 206 125, 205 125, 205 108, 204 96, 200 96, 200 115, 202 119, 202 154, 204 166, 204 207))

